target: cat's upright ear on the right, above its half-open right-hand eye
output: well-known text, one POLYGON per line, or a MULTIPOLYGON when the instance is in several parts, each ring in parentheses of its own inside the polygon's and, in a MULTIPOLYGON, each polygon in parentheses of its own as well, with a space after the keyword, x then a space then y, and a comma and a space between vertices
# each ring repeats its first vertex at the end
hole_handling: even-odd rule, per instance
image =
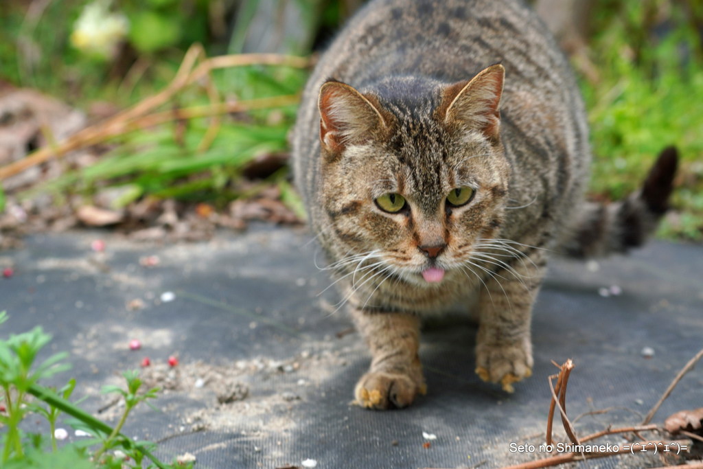
POLYGON ((449 103, 444 122, 459 122, 491 140, 498 139, 504 79, 505 68, 498 64, 482 70, 470 82, 448 86, 444 90, 444 100, 449 103))

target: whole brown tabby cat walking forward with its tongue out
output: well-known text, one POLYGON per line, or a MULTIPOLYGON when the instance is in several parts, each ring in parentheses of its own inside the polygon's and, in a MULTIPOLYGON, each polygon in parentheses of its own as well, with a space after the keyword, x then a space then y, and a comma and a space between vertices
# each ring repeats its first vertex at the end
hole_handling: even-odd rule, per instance
POLYGON ((373 355, 356 400, 425 392, 420 320, 477 311, 476 373, 512 390, 533 365, 530 316, 552 252, 643 243, 676 150, 643 189, 583 200, 591 160, 565 56, 517 0, 373 0, 323 54, 294 134, 296 184, 373 355))

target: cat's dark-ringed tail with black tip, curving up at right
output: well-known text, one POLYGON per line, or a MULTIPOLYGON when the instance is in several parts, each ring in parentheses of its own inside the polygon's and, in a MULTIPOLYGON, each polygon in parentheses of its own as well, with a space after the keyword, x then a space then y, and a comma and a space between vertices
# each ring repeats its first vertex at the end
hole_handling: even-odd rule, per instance
POLYGON ((583 203, 560 251, 583 259, 642 245, 669 209, 677 165, 676 148, 665 148, 639 191, 609 205, 583 203))

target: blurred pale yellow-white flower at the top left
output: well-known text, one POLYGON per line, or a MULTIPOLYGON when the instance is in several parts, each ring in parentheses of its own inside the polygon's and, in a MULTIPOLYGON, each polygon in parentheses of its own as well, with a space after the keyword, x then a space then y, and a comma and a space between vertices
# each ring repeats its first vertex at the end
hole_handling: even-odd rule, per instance
POLYGON ((122 13, 110 12, 111 0, 87 4, 73 25, 71 44, 79 51, 112 58, 117 44, 127 37, 129 20, 122 13))

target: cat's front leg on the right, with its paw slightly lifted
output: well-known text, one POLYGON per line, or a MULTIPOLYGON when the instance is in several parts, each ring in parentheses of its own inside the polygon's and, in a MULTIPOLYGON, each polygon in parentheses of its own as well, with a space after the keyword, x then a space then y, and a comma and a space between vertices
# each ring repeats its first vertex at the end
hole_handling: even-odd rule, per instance
POLYGON ((510 268, 494 268, 481 291, 476 373, 512 392, 512 383, 532 374, 531 314, 546 271, 546 255, 535 250, 508 262, 510 268))

